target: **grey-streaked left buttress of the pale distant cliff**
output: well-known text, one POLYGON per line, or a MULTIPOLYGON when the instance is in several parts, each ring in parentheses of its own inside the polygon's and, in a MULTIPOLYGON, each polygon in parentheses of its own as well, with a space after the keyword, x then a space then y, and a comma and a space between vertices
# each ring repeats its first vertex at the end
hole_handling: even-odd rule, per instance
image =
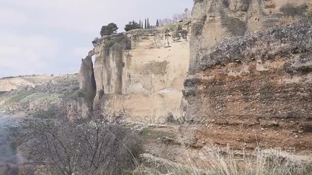
MULTIPOLYGON (((122 94, 123 69, 131 51, 130 39, 125 34, 104 36, 95 43, 94 73, 97 92, 122 94)), ((99 93, 97 93, 99 95, 99 93)))

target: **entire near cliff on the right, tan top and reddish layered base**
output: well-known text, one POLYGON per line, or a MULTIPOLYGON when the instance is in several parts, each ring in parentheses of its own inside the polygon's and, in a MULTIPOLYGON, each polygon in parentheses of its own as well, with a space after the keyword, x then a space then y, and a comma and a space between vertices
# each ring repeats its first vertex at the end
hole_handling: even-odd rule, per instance
POLYGON ((182 107, 186 121, 211 123, 199 128, 199 139, 312 145, 311 7, 304 0, 197 1, 182 107))

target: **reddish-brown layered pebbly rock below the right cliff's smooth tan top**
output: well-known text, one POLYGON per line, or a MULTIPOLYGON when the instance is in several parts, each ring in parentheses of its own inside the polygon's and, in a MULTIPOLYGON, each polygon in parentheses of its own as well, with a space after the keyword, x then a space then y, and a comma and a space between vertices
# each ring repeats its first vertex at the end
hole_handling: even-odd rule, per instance
POLYGON ((186 119, 312 118, 311 26, 306 19, 201 49, 185 81, 186 119))

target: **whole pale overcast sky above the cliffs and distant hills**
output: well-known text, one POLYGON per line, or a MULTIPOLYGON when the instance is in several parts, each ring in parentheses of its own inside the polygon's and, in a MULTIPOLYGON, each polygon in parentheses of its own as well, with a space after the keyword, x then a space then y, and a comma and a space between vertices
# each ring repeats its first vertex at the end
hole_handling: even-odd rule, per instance
POLYGON ((0 77, 79 71, 110 22, 171 17, 192 0, 0 0, 0 77))

